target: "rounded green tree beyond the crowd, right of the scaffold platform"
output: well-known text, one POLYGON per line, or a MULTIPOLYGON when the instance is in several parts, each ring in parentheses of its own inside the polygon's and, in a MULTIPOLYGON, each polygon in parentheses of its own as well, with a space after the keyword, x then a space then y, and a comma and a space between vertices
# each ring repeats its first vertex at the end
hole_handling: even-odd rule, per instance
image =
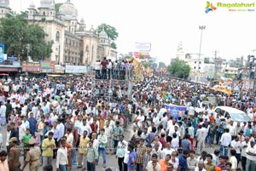
POLYGON ((184 60, 176 59, 171 65, 167 66, 167 70, 174 77, 189 77, 190 66, 184 60))

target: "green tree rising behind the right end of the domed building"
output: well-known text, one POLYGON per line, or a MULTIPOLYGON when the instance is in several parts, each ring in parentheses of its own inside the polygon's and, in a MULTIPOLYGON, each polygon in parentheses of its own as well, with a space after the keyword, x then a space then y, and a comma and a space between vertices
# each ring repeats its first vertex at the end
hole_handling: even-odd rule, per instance
POLYGON ((96 32, 100 33, 101 31, 106 31, 108 37, 113 41, 111 43, 111 48, 116 49, 116 43, 114 41, 119 37, 119 33, 113 26, 107 25, 105 23, 102 23, 100 26, 97 27, 96 32))

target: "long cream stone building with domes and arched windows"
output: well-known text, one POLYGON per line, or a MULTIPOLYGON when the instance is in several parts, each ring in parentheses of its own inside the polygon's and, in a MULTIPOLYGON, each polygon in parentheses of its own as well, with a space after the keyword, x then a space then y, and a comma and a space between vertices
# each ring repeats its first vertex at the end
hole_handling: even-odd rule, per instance
MULTIPOLYGON (((93 66, 102 57, 115 60, 117 51, 110 47, 111 40, 106 31, 97 33, 93 26, 87 28, 83 18, 78 20, 78 10, 73 3, 63 1, 66 2, 58 11, 55 0, 40 0, 40 7, 31 3, 27 9, 29 23, 44 29, 45 41, 53 41, 53 52, 47 60, 75 66, 93 66)), ((10 10, 9 0, 0 0, 0 18, 10 10)))

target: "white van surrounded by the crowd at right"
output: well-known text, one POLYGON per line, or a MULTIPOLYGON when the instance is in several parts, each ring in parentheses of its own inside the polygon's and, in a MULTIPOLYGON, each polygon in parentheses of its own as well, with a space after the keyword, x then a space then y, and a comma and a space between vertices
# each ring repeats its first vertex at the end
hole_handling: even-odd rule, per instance
POLYGON ((252 118, 249 117, 247 113, 233 107, 217 106, 214 109, 214 111, 215 111, 215 115, 217 115, 217 113, 220 113, 225 118, 230 116, 232 121, 236 123, 247 123, 249 121, 253 122, 252 118))

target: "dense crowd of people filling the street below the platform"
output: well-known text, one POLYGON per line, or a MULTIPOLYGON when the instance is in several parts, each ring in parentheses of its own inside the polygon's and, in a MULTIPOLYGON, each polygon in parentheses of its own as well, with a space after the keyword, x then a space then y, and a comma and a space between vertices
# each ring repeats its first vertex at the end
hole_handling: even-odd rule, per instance
POLYGON ((133 83, 131 98, 126 88, 119 88, 118 98, 111 99, 97 95, 88 77, 14 80, 0 84, 1 125, 7 137, 0 134, 1 171, 52 170, 53 160, 60 171, 111 170, 108 155, 117 158, 120 171, 255 171, 253 118, 234 123, 215 113, 214 104, 207 108, 202 103, 215 95, 218 105, 254 117, 254 98, 247 94, 240 98, 211 92, 157 73, 133 83), (170 105, 185 111, 174 115, 166 107, 170 105))

